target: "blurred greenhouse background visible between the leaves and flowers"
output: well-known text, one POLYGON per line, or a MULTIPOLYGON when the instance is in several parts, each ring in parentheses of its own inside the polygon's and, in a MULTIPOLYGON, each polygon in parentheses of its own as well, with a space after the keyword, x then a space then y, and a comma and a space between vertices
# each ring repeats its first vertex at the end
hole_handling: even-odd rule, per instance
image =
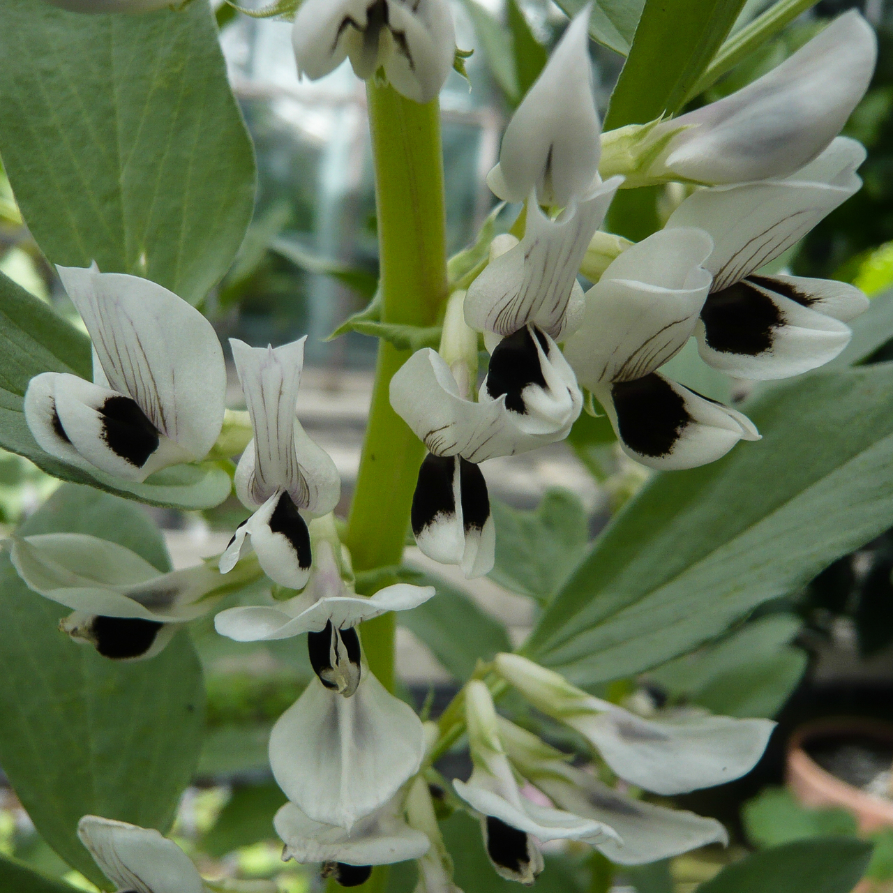
MULTIPOLYGON (((566 0, 565 8, 572 11, 580 5, 566 0)), ((750 0, 739 25, 767 5, 766 0, 750 0)), ((780 265, 801 275, 847 280, 869 296, 879 296, 893 286, 893 3, 822 0, 700 101, 713 101, 768 71, 812 37, 823 20, 853 6, 862 9, 880 38, 872 88, 844 131, 868 149, 861 169, 864 188, 792 248, 780 265)), ((468 79, 454 72, 441 94, 450 254, 473 241, 493 210, 495 200, 484 178, 497 160, 505 121, 567 21, 552 0, 455 0, 454 7, 457 44, 473 54, 465 62, 468 79)), ((348 65, 313 83, 298 81, 288 22, 254 18, 225 4, 218 9, 218 21, 230 80, 255 142, 259 188, 245 243, 204 310, 224 342, 238 337, 252 345, 281 344, 309 334, 298 414, 338 465, 345 488, 337 513, 344 515, 359 463, 376 347, 374 338, 356 332, 328 340, 347 316, 369 303, 378 278, 363 83, 348 65)), ((604 113, 622 56, 601 46, 593 46, 593 55, 604 113)), ((213 140, 213 134, 207 138, 213 140)), ((682 197, 667 188, 660 198, 661 213, 671 213, 682 197)), ((497 231, 504 217, 513 219, 511 209, 497 218, 497 231)), ((0 177, 0 271, 74 318, 54 271, 21 224, 4 177, 0 177)), ((685 380, 685 355, 673 363, 678 377, 685 380)), ((230 405, 235 407, 238 385, 230 373, 230 405)), ((709 395, 716 382, 698 385, 709 395)), ((589 438, 582 427, 589 423, 586 418, 570 443, 488 463, 491 492, 501 500, 495 507, 497 524, 514 525, 530 538, 550 537, 549 548, 562 559, 556 563, 559 570, 571 566, 572 557, 586 546, 569 532, 575 530, 573 524, 563 524, 562 519, 585 513, 594 536, 647 476, 610 444, 589 438)), ((0 454, 0 522, 11 527, 57 485, 26 460, 0 454)), ((228 538, 222 531, 246 516, 235 499, 209 513, 154 513, 178 567, 219 553, 228 538)), ((411 554, 420 574, 431 572, 432 565, 421 554, 411 554)), ((505 633, 500 635, 513 644, 521 641, 536 603, 499 585, 500 579, 509 580, 517 559, 497 554, 496 571, 473 587, 461 576, 447 577, 438 568, 438 588, 449 596, 438 600, 446 613, 442 619, 448 622, 450 599, 472 599, 481 622, 501 624, 505 633)), ((765 606, 719 645, 650 674, 629 695, 661 701, 669 697, 732 715, 775 715, 782 729, 817 715, 820 704, 826 713, 855 711, 893 722, 893 632, 887 632, 893 630, 891 569, 893 540, 888 536, 842 559, 806 591, 765 606)), ((553 591, 559 582, 551 581, 553 591)), ((474 643, 463 653, 455 650, 455 643, 438 646, 436 635, 425 628, 424 613, 406 615, 410 626, 399 630, 398 636, 403 695, 420 705, 427 697, 436 715, 451 693, 453 672, 463 676, 470 672, 474 643)), ((216 636, 210 619, 194 633, 208 683, 209 733, 196 787, 181 805, 175 837, 196 855, 204 874, 256 879, 259 891, 321 889, 311 870, 280 862, 280 845, 272 839, 270 824, 284 796, 268 775, 266 738, 272 720, 310 678, 305 649, 288 640, 237 645, 216 636), (246 840, 254 843, 246 847, 246 840), (234 841, 240 846, 234 848, 234 841), (260 884, 269 879, 274 888, 260 884)), ((865 757, 869 764, 871 756, 865 757)), ((881 768, 889 768, 891 757, 893 747, 874 756, 881 768)), ((461 774, 463 759, 461 752, 450 755, 442 771, 455 769, 461 774)), ((671 893, 667 884, 672 876, 674 889, 683 893, 712 876, 745 843, 768 846, 790 839, 792 833, 808 837, 828 829, 855 834, 855 822, 847 814, 811 813, 781 789, 782 764, 783 743, 776 740, 746 779, 719 789, 720 794, 713 790, 679 798, 689 808, 717 814, 729 823, 736 843, 725 852, 680 857, 653 877, 630 872, 622 889, 671 893)), ((873 771, 869 765, 866 772, 873 772, 873 779, 880 769, 873 771)), ((446 832, 452 837, 447 841, 451 849, 469 853, 456 880, 467 893, 474 893, 480 888, 472 886, 473 873, 478 868, 488 872, 482 867, 485 856, 477 830, 457 814, 447 822, 446 832)), ((893 832, 880 830, 875 837, 879 847, 871 889, 893 889, 893 832)), ((36 837, 27 815, 4 788, 0 788, 0 852, 46 872, 67 872, 69 880, 83 889, 95 889, 68 872, 36 837)), ((584 856, 573 847, 555 848, 552 859, 557 867, 543 875, 537 889, 565 893, 587 889, 578 877, 584 856)), ((404 876, 404 868, 394 872, 391 889, 409 893, 413 878, 404 876)), ((505 881, 492 877, 492 890, 509 889, 505 881)))

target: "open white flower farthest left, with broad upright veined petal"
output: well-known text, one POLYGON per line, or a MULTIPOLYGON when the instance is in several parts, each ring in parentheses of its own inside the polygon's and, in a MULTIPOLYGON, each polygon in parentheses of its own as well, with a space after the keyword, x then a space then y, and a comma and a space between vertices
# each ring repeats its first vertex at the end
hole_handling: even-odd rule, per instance
POLYGON ((38 445, 107 482, 203 459, 225 409, 211 323, 138 276, 56 269, 93 342, 93 381, 68 372, 30 380, 25 421, 38 445))

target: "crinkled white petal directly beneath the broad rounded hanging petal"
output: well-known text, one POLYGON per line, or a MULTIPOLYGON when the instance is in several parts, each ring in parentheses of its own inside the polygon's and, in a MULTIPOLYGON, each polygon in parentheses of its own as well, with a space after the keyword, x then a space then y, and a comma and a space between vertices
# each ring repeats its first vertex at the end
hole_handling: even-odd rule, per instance
POLYGON ((293 803, 282 806, 273 818, 276 833, 285 842, 285 859, 296 862, 341 862, 348 865, 386 865, 418 859, 430 843, 386 804, 347 831, 338 825, 314 822, 293 803))

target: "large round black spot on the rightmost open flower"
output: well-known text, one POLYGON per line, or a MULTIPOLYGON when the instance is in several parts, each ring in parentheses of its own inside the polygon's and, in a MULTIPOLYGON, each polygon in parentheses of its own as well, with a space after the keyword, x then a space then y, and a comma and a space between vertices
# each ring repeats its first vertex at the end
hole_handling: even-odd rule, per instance
POLYGON ((772 349, 784 317, 770 296, 747 280, 707 297, 701 310, 705 339, 721 354, 759 356, 772 349))

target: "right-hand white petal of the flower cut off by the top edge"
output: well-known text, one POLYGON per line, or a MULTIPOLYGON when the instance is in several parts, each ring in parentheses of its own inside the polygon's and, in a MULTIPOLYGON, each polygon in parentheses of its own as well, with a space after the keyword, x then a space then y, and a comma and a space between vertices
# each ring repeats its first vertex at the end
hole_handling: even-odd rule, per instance
POLYGON ((380 36, 380 58, 397 93, 428 103, 453 69, 455 31, 447 0, 414 6, 388 0, 388 28, 380 36))

